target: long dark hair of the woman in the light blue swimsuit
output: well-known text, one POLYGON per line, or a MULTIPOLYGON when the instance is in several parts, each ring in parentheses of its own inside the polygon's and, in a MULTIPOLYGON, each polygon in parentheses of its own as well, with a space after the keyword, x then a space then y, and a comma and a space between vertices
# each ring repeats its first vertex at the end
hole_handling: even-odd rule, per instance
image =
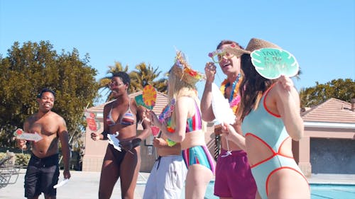
POLYGON ((239 86, 241 103, 239 104, 238 116, 241 121, 251 110, 258 108, 258 103, 263 93, 275 82, 275 80, 266 79, 258 72, 251 63, 251 57, 248 54, 241 55, 241 72, 244 75, 239 86))

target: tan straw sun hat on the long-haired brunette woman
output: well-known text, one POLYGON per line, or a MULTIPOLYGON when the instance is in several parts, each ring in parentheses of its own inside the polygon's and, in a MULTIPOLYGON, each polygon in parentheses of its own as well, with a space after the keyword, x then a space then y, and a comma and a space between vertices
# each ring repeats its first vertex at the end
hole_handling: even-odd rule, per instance
POLYGON ((273 44, 272 42, 268 42, 266 40, 261 40, 257 38, 252 38, 249 41, 248 45, 246 46, 245 50, 236 47, 226 47, 224 50, 226 50, 226 52, 236 55, 236 57, 241 57, 241 55, 243 54, 251 54, 251 52, 253 52, 254 50, 259 50, 261 48, 266 48, 266 47, 281 49, 281 47, 273 44))

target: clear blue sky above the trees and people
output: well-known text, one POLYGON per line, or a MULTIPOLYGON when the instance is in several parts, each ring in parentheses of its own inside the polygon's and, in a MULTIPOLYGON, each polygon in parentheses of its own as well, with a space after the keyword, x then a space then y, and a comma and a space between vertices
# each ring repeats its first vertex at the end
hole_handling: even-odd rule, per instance
MULTIPOLYGON (((0 0, 0 54, 13 42, 48 40, 57 50, 76 48, 106 76, 114 62, 146 62, 167 72, 175 47, 204 72, 224 39, 246 47, 271 41, 295 55, 302 69, 297 89, 332 79, 355 79, 354 0, 256 1, 18 1, 0 0)), ((217 72, 219 85, 224 75, 217 72)), ((202 93, 204 83, 197 85, 202 93)))

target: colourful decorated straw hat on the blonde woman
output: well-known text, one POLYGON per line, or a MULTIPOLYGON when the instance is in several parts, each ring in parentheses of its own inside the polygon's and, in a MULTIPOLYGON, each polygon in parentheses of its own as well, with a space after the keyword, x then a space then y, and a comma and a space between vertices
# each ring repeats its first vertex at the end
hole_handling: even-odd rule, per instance
POLYGON ((176 52, 175 64, 171 70, 181 81, 185 81, 190 85, 195 85, 197 81, 204 79, 204 74, 190 67, 185 59, 185 55, 181 51, 176 52))

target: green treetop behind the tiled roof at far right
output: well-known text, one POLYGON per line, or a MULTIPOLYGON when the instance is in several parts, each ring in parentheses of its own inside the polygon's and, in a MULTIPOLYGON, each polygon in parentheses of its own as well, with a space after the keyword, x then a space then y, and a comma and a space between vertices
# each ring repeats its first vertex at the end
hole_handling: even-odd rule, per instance
POLYGON ((352 79, 333 79, 326 84, 316 81, 316 86, 300 89, 301 107, 312 107, 329 98, 350 102, 355 98, 354 91, 355 81, 352 79))

